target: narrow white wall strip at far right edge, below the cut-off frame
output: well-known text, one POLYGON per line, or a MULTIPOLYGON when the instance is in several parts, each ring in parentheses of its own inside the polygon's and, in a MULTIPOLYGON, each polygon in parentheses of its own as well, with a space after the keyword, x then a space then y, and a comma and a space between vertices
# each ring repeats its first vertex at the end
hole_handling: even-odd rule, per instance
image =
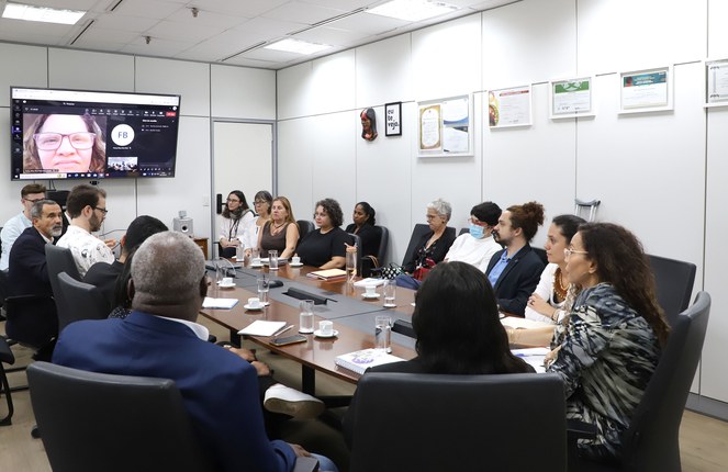
MULTIPOLYGON (((707 117, 707 205, 705 233, 705 290, 713 297, 710 323, 701 362, 701 393, 728 402, 726 346, 728 346, 728 292, 726 261, 728 260, 728 109, 712 109, 707 117)), ((693 233, 691 231, 691 233, 693 233)), ((697 239, 697 235, 691 239, 697 239)), ((696 281, 696 286, 699 288, 696 281)))

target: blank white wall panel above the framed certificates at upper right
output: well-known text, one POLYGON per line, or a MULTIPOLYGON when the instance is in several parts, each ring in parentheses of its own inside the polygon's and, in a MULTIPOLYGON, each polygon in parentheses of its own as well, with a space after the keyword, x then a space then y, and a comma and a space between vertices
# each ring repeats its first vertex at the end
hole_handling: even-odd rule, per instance
POLYGON ((705 0, 576 1, 580 74, 656 67, 706 54, 705 0))

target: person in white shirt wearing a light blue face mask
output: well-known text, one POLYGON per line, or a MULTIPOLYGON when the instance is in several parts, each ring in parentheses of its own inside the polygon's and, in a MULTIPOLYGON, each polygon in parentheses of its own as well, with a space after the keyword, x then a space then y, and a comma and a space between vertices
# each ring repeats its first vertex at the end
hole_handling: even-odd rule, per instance
POLYGON ((468 262, 485 272, 491 257, 503 249, 493 240, 493 227, 501 216, 501 207, 493 202, 483 202, 470 210, 470 233, 464 233, 450 246, 446 262, 468 262))

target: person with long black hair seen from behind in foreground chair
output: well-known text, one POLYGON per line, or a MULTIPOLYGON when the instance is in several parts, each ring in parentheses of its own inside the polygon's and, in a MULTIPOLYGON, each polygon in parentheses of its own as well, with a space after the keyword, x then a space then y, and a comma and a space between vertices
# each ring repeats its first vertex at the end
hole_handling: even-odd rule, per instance
MULTIPOLYGON (((415 295, 412 326, 417 357, 367 372, 495 374, 534 372, 511 353, 495 294, 483 272, 467 262, 438 263, 415 295)), ((387 401, 387 398, 382 398, 387 401)), ((350 445, 356 393, 344 432, 350 445)))

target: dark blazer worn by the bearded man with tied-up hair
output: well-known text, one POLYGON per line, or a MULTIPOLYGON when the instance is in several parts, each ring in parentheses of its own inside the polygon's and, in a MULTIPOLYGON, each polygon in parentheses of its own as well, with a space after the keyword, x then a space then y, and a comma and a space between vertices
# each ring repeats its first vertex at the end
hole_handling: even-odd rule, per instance
MULTIPOLYGON (((503 249, 493 255, 485 274, 491 273, 505 251, 506 249, 503 249)), ((503 269, 493 288, 501 311, 524 316, 528 297, 536 290, 542 271, 541 258, 530 248, 530 245, 526 244, 503 269)))

